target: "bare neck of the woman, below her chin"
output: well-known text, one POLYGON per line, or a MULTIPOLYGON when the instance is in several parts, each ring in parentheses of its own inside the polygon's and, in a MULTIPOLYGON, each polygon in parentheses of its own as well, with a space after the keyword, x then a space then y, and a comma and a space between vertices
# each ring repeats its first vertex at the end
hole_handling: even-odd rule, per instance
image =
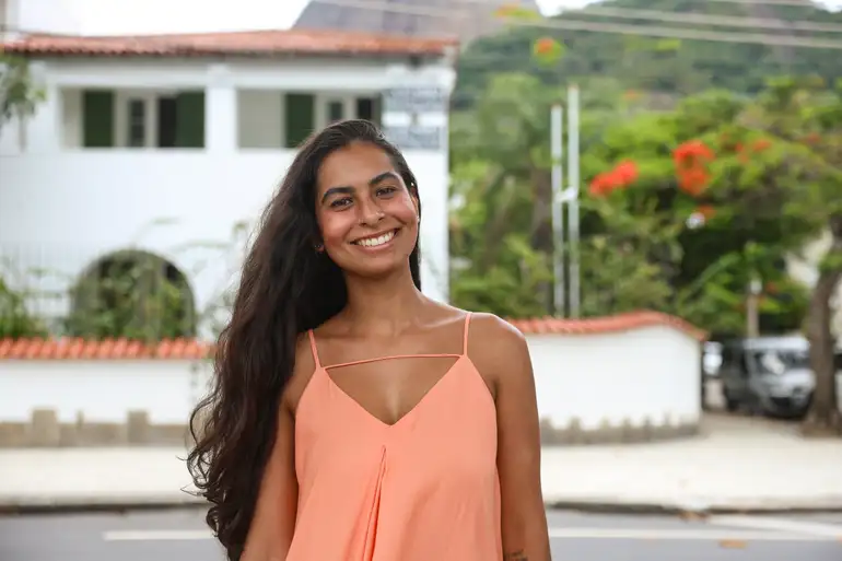
POLYGON ((418 320, 426 297, 409 268, 384 279, 346 278, 348 304, 342 312, 354 331, 391 336, 418 320))

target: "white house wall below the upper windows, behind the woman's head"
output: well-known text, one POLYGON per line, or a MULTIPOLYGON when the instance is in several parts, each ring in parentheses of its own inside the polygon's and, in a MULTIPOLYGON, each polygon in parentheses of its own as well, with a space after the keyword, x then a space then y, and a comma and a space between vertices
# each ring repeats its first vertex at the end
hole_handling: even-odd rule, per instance
MULTIPOLYGON (((227 287, 229 264, 213 262, 220 259, 219 250, 190 246, 225 244, 236 223, 254 222, 294 153, 278 150, 208 157, 201 151, 192 152, 104 149, 0 156, 0 254, 21 270, 55 269, 71 280, 102 256, 139 247, 185 272, 197 305, 203 308, 227 287), (151 227, 160 219, 173 221, 151 227)), ((429 152, 407 152, 406 156, 418 176, 424 207, 424 291, 444 299, 446 160, 429 152)), ((61 279, 54 280, 56 283, 44 288, 60 288, 61 279)))

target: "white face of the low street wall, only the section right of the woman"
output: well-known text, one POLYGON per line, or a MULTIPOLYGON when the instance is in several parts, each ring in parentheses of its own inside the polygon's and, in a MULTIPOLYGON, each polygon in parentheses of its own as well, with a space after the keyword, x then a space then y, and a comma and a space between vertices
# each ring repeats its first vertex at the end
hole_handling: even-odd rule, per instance
POLYGON ((528 336, 538 410, 558 429, 692 424, 701 416, 699 341, 668 326, 528 336))

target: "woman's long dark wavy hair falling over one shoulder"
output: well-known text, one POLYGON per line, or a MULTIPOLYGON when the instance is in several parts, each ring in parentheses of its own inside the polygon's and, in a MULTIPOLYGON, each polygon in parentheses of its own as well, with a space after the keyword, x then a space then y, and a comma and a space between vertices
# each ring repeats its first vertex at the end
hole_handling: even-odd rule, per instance
MULTIPOLYGON (((231 561, 239 559, 252 524, 297 338, 340 312, 348 300, 342 271, 326 253, 315 250, 320 239, 315 191, 328 154, 354 142, 388 154, 418 197, 416 177, 401 153, 366 120, 337 122, 304 141, 261 217, 231 322, 219 337, 211 391, 190 414, 196 445, 188 469, 199 494, 210 502, 206 521, 231 561)), ((418 243, 409 267, 420 289, 418 243)))

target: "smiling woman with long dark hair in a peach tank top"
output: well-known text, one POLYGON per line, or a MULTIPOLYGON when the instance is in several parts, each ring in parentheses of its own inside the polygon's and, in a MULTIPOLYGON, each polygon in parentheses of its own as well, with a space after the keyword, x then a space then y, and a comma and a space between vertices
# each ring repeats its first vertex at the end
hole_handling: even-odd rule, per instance
POLYGON ((420 217, 367 121, 296 155, 191 422, 229 559, 550 559, 524 337, 421 293, 420 217))

